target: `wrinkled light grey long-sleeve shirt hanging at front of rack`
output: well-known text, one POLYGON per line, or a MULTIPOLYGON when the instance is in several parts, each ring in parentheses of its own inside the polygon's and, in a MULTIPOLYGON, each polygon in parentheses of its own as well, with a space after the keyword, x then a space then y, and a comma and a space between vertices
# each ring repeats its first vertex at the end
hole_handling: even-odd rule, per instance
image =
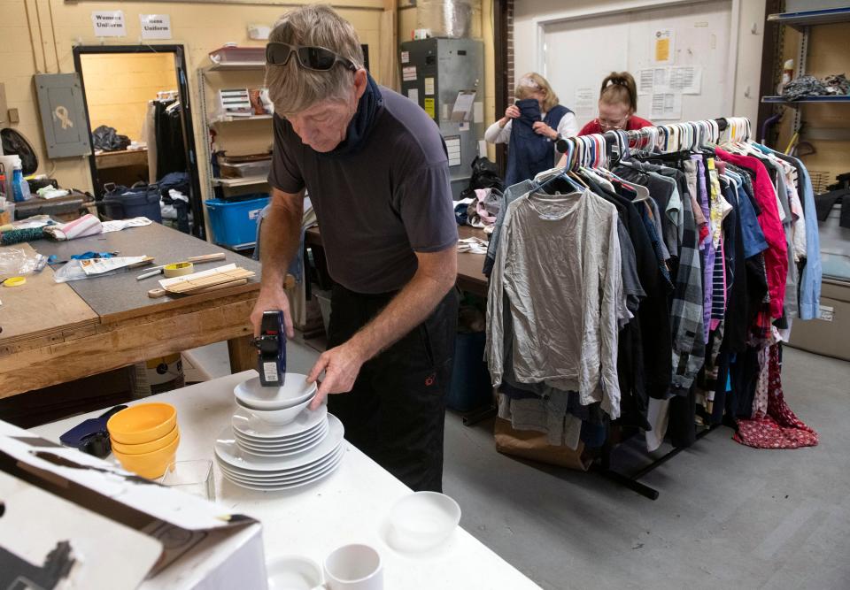
POLYGON ((519 381, 577 391, 583 405, 601 402, 619 417, 617 221, 614 205, 590 191, 526 195, 508 206, 487 300, 485 355, 494 386, 510 346, 519 381), (503 314, 505 300, 510 314, 503 314))

